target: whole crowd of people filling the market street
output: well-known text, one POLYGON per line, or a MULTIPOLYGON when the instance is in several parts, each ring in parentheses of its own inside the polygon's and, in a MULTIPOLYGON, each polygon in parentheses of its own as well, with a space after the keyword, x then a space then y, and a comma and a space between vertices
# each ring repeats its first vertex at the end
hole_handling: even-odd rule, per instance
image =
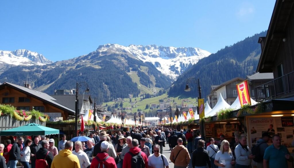
POLYGON ((230 142, 223 135, 219 139, 205 141, 197 130, 162 127, 138 127, 113 135, 96 131, 86 142, 67 141, 66 135, 61 141, 55 137, 19 137, 0 144, 0 167, 16 168, 21 162, 24 168, 30 164, 31 168, 168 168, 165 145, 171 151, 169 159, 174 168, 188 167, 191 159, 193 168, 250 168, 252 160, 258 168, 288 167, 287 162, 293 162, 278 134, 264 132, 252 151, 244 135, 236 135, 230 142), (268 146, 270 138, 273 144, 268 146))

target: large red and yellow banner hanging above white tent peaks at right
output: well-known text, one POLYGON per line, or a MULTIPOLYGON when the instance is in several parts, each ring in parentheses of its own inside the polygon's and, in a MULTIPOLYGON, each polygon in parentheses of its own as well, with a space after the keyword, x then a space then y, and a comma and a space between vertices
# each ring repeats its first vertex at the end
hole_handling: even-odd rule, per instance
POLYGON ((241 107, 243 107, 245 104, 251 105, 248 81, 245 80, 237 84, 236 87, 237 87, 241 107))

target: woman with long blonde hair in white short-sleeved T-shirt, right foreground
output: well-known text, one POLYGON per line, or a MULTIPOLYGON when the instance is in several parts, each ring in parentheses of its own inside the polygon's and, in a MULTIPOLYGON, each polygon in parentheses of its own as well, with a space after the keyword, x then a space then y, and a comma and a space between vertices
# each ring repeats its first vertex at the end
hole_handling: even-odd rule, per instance
POLYGON ((214 164, 218 167, 232 168, 235 164, 233 153, 229 147, 229 142, 223 140, 220 144, 220 150, 216 153, 214 164))

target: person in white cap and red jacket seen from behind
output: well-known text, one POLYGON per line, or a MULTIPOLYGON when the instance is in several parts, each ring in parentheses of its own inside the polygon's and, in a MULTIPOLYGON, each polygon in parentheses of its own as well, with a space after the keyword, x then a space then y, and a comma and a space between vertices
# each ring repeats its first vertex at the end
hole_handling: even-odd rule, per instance
MULTIPOLYGON (((101 139, 101 137, 100 137, 100 139, 101 139)), ((103 142, 101 142, 101 144, 100 144, 100 150, 101 150, 101 152, 99 152, 96 155, 96 157, 93 157, 93 160, 92 160, 92 163, 91 163, 90 168, 96 168, 96 167, 98 167, 98 164, 99 164, 99 162, 101 163, 101 161, 103 161, 104 167, 107 167, 107 168, 117 168, 116 167, 115 160, 112 157, 109 157, 109 155, 107 153, 110 145, 111 144, 109 144, 105 140, 103 142), (106 157, 108 157, 108 158, 106 159, 106 157), (106 159, 106 160, 104 160, 104 159, 106 159)), ((95 145, 95 147, 96 147, 96 145, 95 145)))

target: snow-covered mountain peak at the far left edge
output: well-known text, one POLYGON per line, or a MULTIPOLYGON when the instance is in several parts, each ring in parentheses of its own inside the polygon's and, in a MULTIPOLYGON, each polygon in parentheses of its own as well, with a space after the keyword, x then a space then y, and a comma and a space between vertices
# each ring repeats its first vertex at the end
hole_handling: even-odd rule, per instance
POLYGON ((0 63, 10 65, 45 65, 53 63, 46 59, 42 54, 38 54, 26 49, 18 49, 15 51, 0 50, 0 63))

